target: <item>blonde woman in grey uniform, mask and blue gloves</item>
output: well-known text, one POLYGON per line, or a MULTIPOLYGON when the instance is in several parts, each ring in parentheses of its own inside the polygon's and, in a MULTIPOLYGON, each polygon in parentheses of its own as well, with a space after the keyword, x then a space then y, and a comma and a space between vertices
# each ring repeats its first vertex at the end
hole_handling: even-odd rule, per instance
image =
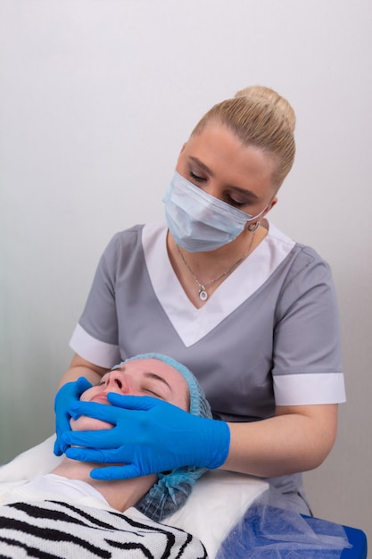
POLYGON ((344 388, 331 271, 266 220, 293 164, 294 122, 268 88, 213 106, 179 154, 168 227, 132 227, 104 251, 55 400, 54 452, 107 463, 95 479, 222 468, 270 478, 282 506, 309 513, 300 472, 332 448, 344 388), (145 352, 185 363, 216 419, 169 420, 151 395, 113 394, 110 435, 71 432, 70 414, 104 421, 110 409, 78 404, 87 381, 71 381, 95 383, 145 352))

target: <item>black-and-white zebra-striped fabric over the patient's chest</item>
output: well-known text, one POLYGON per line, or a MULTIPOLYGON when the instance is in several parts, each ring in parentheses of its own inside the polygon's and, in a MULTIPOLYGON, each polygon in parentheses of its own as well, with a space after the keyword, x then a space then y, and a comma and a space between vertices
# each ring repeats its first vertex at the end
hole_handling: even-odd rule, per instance
POLYGON ((24 557, 204 559, 207 554, 199 539, 140 513, 40 500, 0 507, 0 559, 24 557))

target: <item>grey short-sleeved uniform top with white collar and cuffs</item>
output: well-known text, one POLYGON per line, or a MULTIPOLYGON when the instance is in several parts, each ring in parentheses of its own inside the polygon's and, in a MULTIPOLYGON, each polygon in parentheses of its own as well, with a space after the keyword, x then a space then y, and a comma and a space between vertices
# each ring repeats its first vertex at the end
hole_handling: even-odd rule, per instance
POLYGON ((169 263, 166 234, 165 225, 145 225, 112 238, 71 338, 79 355, 107 368, 137 354, 171 355, 226 421, 267 418, 276 404, 344 401, 335 289, 314 250, 270 224, 196 309, 169 263))

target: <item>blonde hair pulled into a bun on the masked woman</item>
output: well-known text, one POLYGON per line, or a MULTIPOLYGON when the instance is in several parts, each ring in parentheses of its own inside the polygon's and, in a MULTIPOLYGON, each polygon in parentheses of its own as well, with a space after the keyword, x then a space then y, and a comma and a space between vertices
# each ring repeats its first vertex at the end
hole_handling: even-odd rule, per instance
POLYGON ((207 124, 218 122, 231 129, 244 146, 253 146, 276 161, 274 188, 279 188, 293 166, 295 114, 291 104, 277 91, 263 86, 244 88, 232 99, 211 107, 195 126, 199 134, 207 124))

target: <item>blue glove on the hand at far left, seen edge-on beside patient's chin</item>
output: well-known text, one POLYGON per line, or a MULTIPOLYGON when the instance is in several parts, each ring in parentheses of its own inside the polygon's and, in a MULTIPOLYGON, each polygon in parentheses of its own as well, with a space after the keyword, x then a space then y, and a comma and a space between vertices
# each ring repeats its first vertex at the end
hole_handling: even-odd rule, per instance
POLYGON ((54 399, 55 434, 54 455, 61 456, 66 452, 67 445, 62 441, 62 434, 70 431, 70 405, 79 402, 79 397, 92 385, 85 377, 75 382, 67 382, 57 392, 54 399))

